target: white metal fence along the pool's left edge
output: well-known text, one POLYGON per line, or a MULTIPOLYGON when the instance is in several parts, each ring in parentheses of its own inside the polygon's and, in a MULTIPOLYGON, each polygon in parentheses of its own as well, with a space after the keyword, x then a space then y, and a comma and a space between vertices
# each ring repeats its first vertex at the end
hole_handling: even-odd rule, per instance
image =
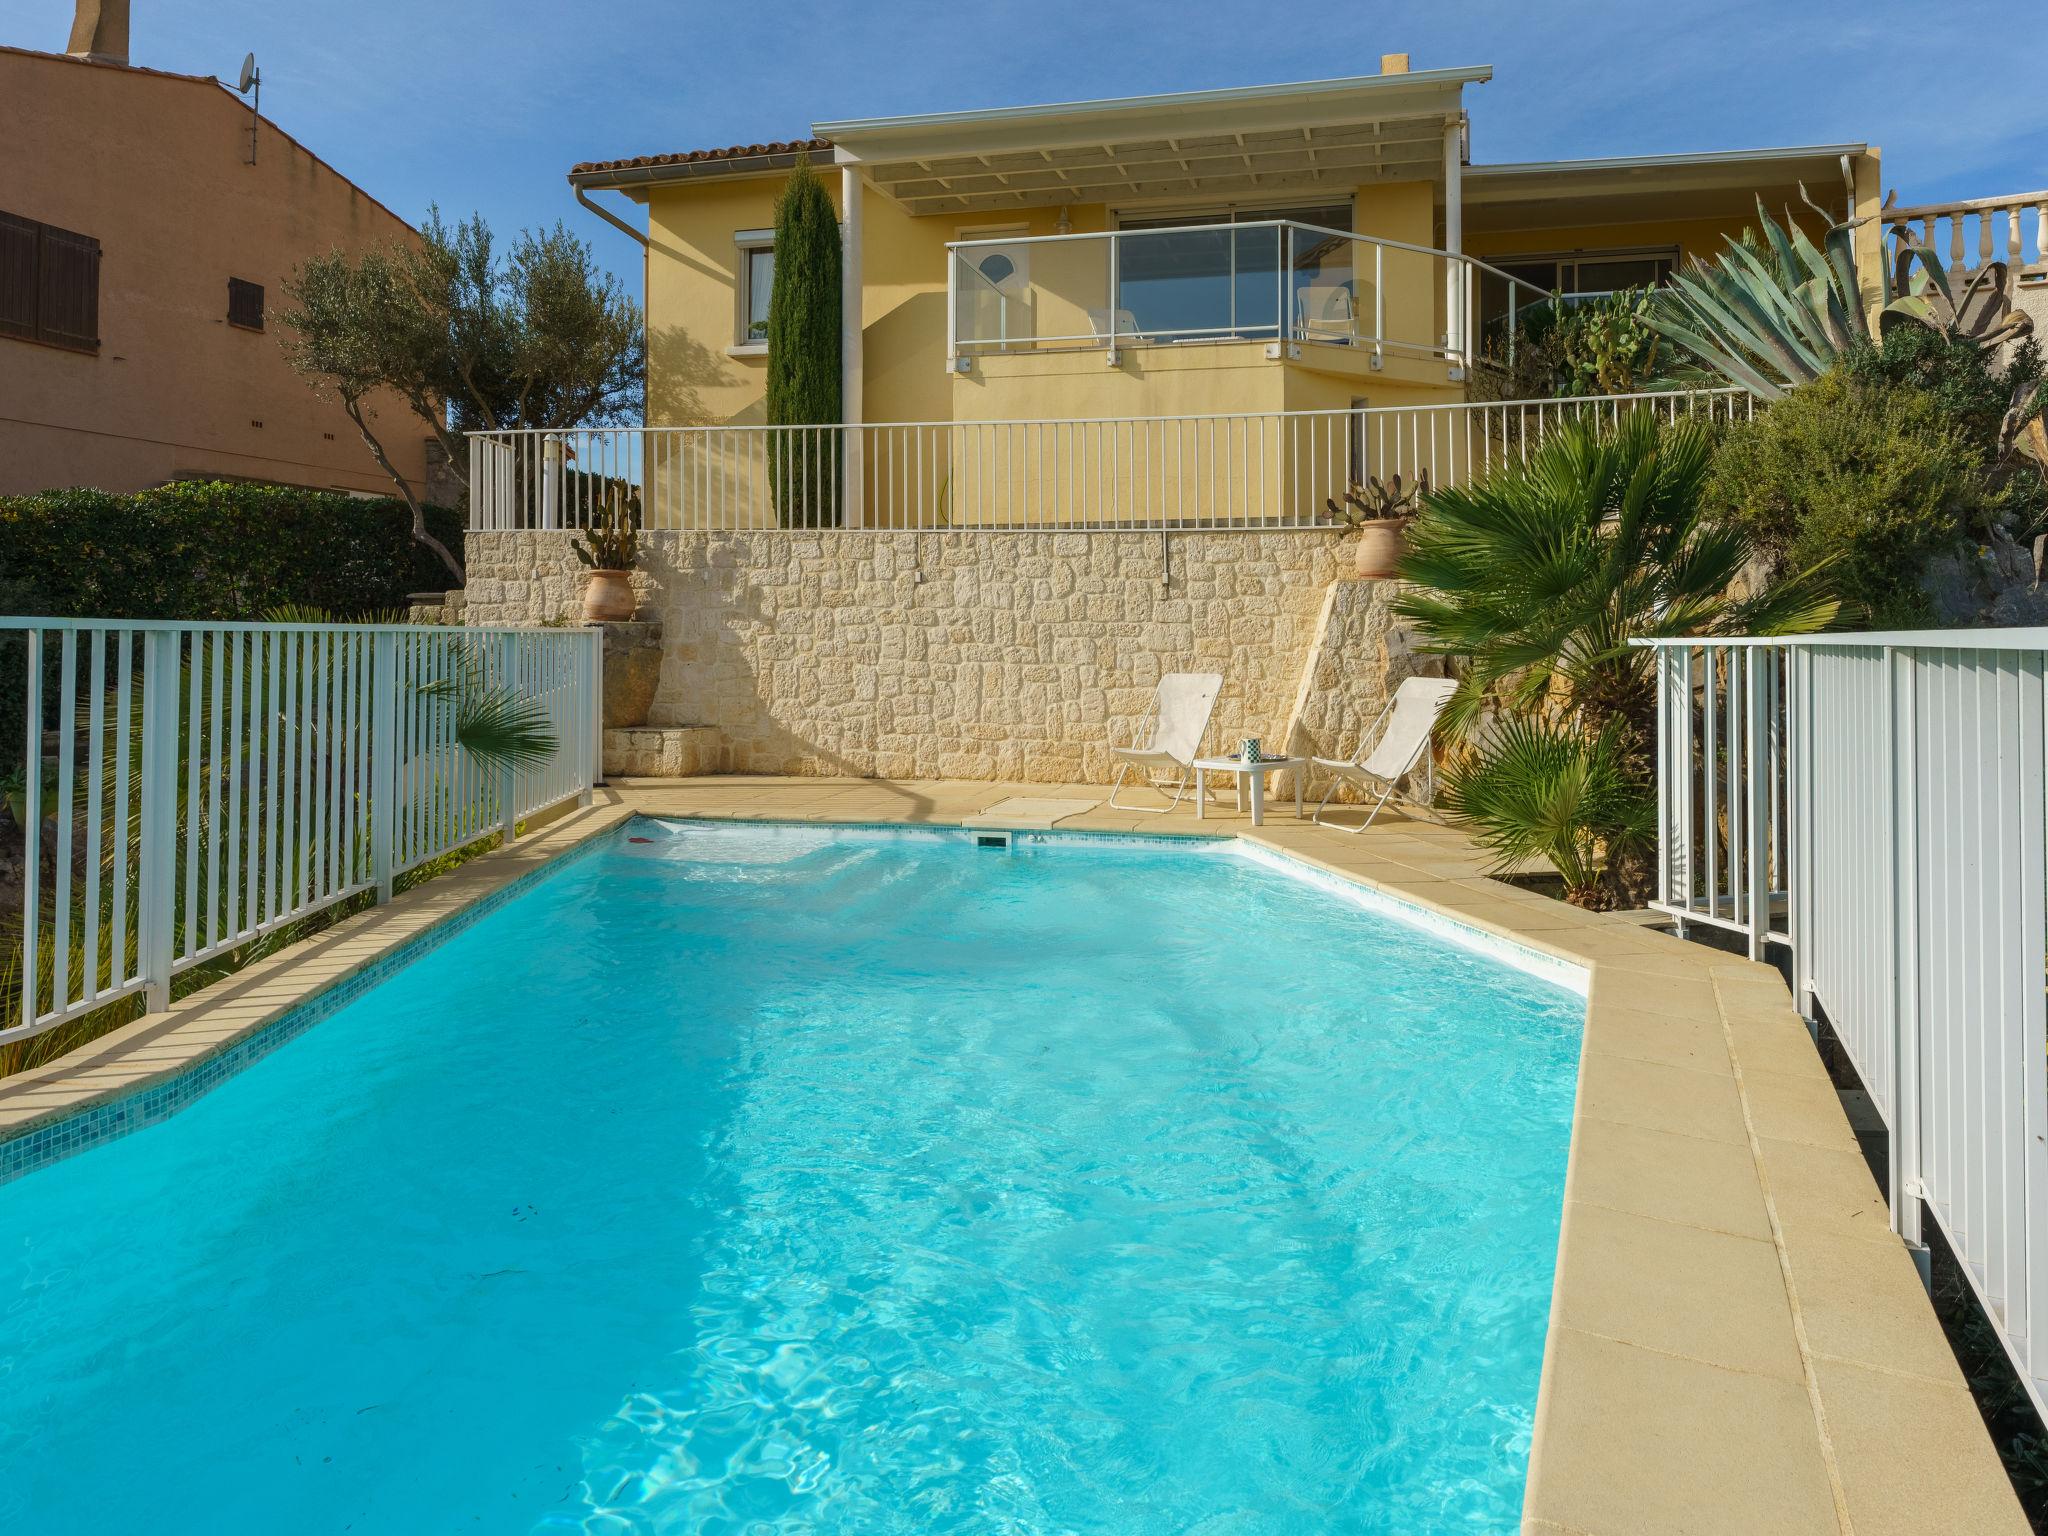
POLYGON ((0 907, 0 1042, 375 891, 598 774, 594 629, 0 618, 0 750, 23 840, 0 907), (487 768, 465 709, 537 705, 553 750, 487 768))

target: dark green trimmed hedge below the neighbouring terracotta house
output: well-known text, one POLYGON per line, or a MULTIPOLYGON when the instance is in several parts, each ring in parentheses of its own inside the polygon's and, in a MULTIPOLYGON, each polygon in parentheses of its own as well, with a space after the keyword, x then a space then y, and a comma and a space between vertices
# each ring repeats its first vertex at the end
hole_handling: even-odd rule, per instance
MULTIPOLYGON (((461 514, 426 516, 461 559, 461 514)), ((6 612, 53 618, 346 616, 449 586, 399 500, 229 481, 0 498, 0 573, 6 612)))

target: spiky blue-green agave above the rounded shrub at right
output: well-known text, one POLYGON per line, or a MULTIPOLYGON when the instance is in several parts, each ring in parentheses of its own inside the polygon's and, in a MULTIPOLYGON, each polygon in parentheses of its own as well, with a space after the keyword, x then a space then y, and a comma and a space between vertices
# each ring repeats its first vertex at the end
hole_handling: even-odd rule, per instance
MULTIPOLYGON (((1825 209, 1800 199, 1825 217, 1825 209)), ((1872 336, 1855 229, 1829 223, 1817 246, 1790 217, 1757 201, 1757 229, 1731 238, 1716 262, 1694 260, 1657 293, 1649 324, 1720 377, 1761 399, 1819 379, 1872 336)), ((1917 324, 1978 346, 2025 336, 2034 322, 2011 307, 2005 262, 1989 262, 1958 297, 1927 246, 1901 238, 1892 268, 1878 266, 1878 332, 1917 324)))

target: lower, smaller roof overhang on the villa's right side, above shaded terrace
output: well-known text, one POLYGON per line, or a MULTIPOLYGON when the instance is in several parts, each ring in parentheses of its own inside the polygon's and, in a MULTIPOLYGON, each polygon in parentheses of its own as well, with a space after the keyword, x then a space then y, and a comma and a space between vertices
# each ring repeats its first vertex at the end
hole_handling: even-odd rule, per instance
POLYGON ((1718 150, 1606 160, 1534 160, 1468 166, 1464 227, 1628 223, 1665 217, 1747 215, 1761 197, 1776 213, 1798 199, 1800 184, 1825 209, 1845 209, 1843 162, 1870 154, 1866 143, 1802 143, 1778 150, 1718 150))

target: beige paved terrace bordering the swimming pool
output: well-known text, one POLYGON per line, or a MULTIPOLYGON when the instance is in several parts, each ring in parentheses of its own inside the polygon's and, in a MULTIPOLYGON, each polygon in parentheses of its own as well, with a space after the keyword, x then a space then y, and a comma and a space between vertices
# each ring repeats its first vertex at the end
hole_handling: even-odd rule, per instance
POLYGON ((1524 1530, 2028 1530, 1778 973, 1489 881, 1460 831, 1427 821, 1343 836, 1288 799, 1253 829, 1214 805, 1196 821, 1192 801, 1112 811, 1071 784, 616 780, 508 850, 0 1081, 0 1143, 178 1077, 635 813, 950 825, 1012 797, 1104 801, 1059 829, 1251 838, 1589 969, 1524 1530))

